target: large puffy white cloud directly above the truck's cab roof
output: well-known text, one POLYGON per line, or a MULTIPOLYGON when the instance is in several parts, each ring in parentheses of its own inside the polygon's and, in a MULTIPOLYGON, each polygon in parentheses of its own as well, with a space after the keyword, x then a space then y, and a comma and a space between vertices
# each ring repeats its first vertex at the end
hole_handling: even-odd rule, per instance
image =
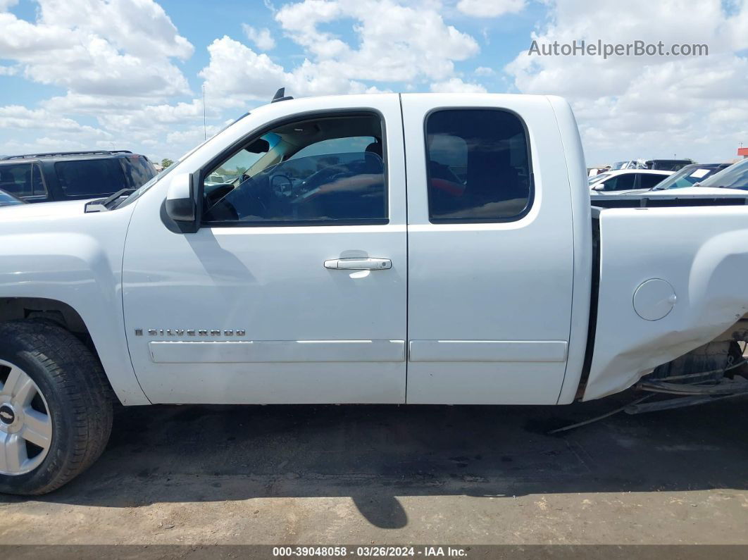
POLYGON ((270 99, 278 87, 294 96, 373 92, 382 89, 377 82, 393 81, 479 87, 454 79, 454 61, 475 55, 476 41, 447 25, 432 4, 305 0, 286 4, 275 19, 304 49, 304 61, 286 68, 232 37, 216 39, 208 47, 209 64, 200 71, 213 102, 242 107, 270 99), (343 19, 354 20, 355 47, 321 28, 343 19))

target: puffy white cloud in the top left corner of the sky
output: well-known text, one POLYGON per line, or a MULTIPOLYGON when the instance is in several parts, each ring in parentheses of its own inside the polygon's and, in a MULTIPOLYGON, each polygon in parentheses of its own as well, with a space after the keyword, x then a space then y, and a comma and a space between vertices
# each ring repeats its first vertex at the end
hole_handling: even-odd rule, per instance
POLYGON ((35 22, 0 13, 0 58, 15 61, 28 79, 115 97, 188 93, 171 58, 189 58, 193 47, 153 0, 39 4, 35 22))

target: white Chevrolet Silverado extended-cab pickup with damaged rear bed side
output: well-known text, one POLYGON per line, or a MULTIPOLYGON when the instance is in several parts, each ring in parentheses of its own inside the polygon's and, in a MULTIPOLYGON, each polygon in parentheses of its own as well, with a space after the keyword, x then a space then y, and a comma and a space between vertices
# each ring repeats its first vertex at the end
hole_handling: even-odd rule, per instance
POLYGON ((738 339, 748 208, 593 209, 563 99, 280 101, 0 209, 0 491, 82 472, 116 400, 568 404, 738 339))

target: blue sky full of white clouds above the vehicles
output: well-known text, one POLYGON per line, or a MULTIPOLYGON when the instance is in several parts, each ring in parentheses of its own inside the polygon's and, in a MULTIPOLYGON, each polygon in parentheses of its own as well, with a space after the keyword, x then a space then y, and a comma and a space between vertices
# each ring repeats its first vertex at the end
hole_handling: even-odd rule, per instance
POLYGON ((560 95, 588 165, 731 161, 748 0, 0 0, 0 154, 177 159, 278 87, 560 95), (708 55, 539 56, 533 40, 708 55))

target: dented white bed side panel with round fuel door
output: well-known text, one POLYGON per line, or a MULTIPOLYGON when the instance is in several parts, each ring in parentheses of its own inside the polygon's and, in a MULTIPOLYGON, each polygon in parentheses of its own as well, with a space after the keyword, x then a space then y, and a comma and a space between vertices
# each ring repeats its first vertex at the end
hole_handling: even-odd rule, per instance
POLYGON ((630 387, 748 310, 748 208, 610 209, 600 213, 600 230, 597 328, 583 400, 630 387), (665 280, 672 294, 644 288, 635 309, 634 294, 648 280, 660 289, 665 280))

